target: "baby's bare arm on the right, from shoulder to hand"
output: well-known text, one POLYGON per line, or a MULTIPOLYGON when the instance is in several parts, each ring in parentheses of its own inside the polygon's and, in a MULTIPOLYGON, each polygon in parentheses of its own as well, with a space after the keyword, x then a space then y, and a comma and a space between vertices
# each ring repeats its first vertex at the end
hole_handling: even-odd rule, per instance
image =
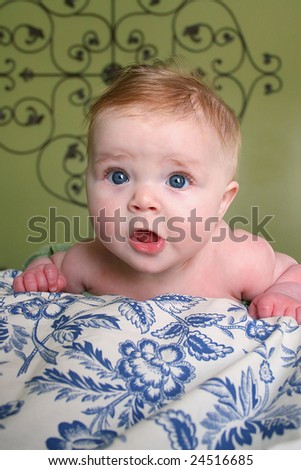
POLYGON ((250 302, 254 318, 289 316, 301 324, 301 265, 244 230, 230 238, 226 268, 234 297, 250 302))

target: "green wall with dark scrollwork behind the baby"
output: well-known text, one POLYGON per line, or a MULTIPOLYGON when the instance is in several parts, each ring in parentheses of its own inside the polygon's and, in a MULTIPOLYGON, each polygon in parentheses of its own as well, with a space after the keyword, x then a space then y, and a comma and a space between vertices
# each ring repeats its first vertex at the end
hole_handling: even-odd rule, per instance
POLYGON ((299 0, 0 1, 0 266, 20 268, 50 241, 39 240, 49 208, 61 216, 51 241, 78 224, 88 234, 88 104, 110 64, 172 52, 221 85, 241 117, 240 192, 228 219, 252 214, 245 228, 256 231, 256 217, 273 216, 264 226, 272 246, 301 262, 300 18, 299 0))

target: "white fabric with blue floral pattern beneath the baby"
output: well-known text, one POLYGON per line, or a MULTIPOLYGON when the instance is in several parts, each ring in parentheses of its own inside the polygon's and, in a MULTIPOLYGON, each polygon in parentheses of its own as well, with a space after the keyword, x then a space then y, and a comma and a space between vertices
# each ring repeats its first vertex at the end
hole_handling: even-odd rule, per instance
POLYGON ((294 320, 179 294, 16 294, 17 273, 0 273, 1 448, 301 448, 294 320))

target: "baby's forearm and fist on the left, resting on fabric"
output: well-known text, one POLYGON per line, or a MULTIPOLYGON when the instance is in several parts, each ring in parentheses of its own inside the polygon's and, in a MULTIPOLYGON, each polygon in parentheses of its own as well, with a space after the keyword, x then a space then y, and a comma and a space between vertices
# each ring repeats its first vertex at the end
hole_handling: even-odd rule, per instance
POLYGON ((61 292, 67 282, 60 271, 66 252, 34 259, 13 282, 15 292, 61 292))

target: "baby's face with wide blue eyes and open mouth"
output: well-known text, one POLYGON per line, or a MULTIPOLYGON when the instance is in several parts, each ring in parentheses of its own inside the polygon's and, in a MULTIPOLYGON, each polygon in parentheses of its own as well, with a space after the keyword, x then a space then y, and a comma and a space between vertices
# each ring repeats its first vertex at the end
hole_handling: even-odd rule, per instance
POLYGON ((87 169, 96 235, 143 272, 197 255, 236 193, 224 152, 215 129, 193 118, 135 108, 101 113, 87 169))

